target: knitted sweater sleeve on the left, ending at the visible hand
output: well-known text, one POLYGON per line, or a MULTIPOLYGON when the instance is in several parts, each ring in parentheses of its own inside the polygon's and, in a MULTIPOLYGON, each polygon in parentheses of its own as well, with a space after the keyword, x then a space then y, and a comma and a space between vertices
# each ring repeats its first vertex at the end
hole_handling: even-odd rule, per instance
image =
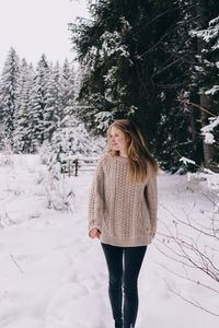
POLYGON ((102 231, 102 221, 104 214, 104 172, 103 156, 99 160, 95 167, 93 181, 91 185, 89 198, 89 233, 93 227, 102 231))

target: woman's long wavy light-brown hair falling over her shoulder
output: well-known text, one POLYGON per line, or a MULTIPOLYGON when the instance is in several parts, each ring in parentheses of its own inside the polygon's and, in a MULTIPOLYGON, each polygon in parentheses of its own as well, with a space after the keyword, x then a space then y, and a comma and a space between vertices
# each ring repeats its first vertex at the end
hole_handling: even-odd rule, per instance
POLYGON ((106 137, 107 144, 104 152, 111 153, 112 156, 118 156, 119 151, 113 150, 111 143, 112 127, 119 129, 127 138, 127 152, 129 161, 129 179, 132 184, 145 184, 148 180, 147 163, 149 162, 155 173, 159 174, 159 165, 155 159, 149 153, 143 137, 138 127, 130 119, 117 119, 108 127, 106 137))

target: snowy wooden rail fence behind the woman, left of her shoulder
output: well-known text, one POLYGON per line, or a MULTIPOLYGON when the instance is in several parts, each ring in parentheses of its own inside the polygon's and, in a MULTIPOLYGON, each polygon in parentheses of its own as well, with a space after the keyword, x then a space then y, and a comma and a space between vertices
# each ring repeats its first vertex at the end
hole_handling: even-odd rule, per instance
POLYGON ((79 172, 94 171, 99 157, 67 160, 61 163, 61 173, 70 176, 78 176, 79 172))

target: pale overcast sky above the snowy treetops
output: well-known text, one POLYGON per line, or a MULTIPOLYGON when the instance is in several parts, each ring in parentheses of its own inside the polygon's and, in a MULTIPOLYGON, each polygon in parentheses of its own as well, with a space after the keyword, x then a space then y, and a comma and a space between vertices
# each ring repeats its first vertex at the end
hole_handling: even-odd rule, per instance
POLYGON ((72 59, 68 23, 88 17, 87 0, 0 0, 0 72, 10 47, 34 66, 72 59))

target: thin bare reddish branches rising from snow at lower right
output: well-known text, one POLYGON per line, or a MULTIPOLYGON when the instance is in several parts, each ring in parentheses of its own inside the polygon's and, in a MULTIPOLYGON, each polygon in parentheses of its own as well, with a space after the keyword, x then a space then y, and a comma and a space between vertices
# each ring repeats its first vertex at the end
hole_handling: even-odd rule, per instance
MULTIPOLYGON (((208 198, 208 196, 206 197, 208 198)), ((212 279, 214 282, 219 282, 219 267, 218 261, 216 261, 216 258, 218 259, 219 251, 217 245, 215 247, 214 244, 211 244, 212 242, 217 243, 219 239, 219 230, 216 227, 218 220, 201 215, 200 218, 203 218, 203 221, 208 220, 207 223, 206 221, 201 223, 191 218, 196 202, 193 203, 193 207, 188 211, 183 209, 183 212, 185 214, 184 220, 177 219, 176 215, 172 213, 164 204, 159 204, 164 208, 168 213, 170 213, 170 221, 168 221, 166 223, 166 221, 164 222, 163 220, 159 219, 159 222, 163 225, 166 233, 158 233, 161 238, 157 238, 157 241, 158 243, 162 244, 162 247, 159 247, 158 244, 154 245, 162 255, 178 263, 181 268, 183 268, 183 272, 178 273, 175 270, 172 270, 161 263, 159 265, 181 279, 187 280, 196 285, 199 285, 200 288, 209 290, 212 293, 219 294, 219 290, 217 290, 217 288, 215 288, 210 283, 205 283, 204 280, 205 277, 208 277, 209 279, 212 279), (173 218, 173 220, 171 218, 173 218), (187 227, 188 230, 185 227, 187 227), (189 232, 192 232, 191 235, 189 232), (206 238, 209 238, 209 243, 208 239, 206 243, 206 238), (217 257, 215 256, 216 253, 217 257), (204 278, 198 280, 193 278, 192 269, 198 269, 200 272, 203 272, 203 274, 205 274, 203 276, 204 278)), ((205 210, 205 212, 207 211, 205 210)), ((217 309, 207 308, 197 300, 194 300, 192 296, 189 296, 189 298, 185 297, 180 291, 171 289, 168 282, 166 285, 171 292, 176 294, 182 300, 211 315, 219 316, 217 309)))

